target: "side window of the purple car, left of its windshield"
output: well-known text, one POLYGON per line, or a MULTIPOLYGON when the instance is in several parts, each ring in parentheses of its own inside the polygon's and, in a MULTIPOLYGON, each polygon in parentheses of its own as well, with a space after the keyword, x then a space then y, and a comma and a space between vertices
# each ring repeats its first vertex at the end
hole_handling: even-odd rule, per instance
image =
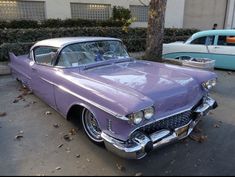
POLYGON ((55 57, 57 50, 58 49, 53 47, 37 47, 36 49, 34 49, 34 58, 36 63, 52 66, 53 62, 56 59, 55 57))

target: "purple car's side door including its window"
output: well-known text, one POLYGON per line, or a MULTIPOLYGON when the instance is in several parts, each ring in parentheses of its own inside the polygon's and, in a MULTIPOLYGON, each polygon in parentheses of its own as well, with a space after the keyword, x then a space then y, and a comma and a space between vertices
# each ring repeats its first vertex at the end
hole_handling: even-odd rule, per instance
POLYGON ((34 64, 32 65, 32 89, 48 105, 56 109, 54 97, 55 68, 53 61, 57 49, 53 47, 37 47, 33 51, 34 64))

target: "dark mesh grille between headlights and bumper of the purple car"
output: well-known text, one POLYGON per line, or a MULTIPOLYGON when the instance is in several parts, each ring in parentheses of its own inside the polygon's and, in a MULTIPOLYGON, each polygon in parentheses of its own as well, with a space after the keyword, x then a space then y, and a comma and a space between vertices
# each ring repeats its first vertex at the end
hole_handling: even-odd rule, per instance
POLYGON ((195 118, 195 114, 192 111, 187 111, 187 112, 177 114, 175 116, 157 121, 153 124, 147 125, 143 127, 141 131, 146 134, 152 134, 162 129, 175 130, 176 128, 179 128, 188 124, 194 118, 195 118))

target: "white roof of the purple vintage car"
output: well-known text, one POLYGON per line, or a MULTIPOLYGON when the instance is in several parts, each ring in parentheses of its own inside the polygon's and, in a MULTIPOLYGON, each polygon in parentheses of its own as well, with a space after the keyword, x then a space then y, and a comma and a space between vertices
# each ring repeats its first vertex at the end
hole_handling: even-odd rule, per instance
POLYGON ((69 44, 80 43, 80 42, 92 42, 92 41, 104 41, 104 40, 115 40, 121 41, 117 38, 107 38, 107 37, 67 37, 67 38, 54 38, 54 39, 47 39, 40 42, 37 42, 33 47, 38 46, 51 46, 56 48, 62 48, 69 44))

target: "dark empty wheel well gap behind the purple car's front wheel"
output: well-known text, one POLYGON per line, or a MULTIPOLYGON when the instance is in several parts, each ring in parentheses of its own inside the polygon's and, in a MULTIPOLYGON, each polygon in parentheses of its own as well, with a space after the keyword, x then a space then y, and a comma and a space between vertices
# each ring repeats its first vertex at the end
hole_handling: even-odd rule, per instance
POLYGON ((67 114, 67 120, 77 122, 82 118, 82 111, 85 107, 80 105, 73 105, 67 114))

